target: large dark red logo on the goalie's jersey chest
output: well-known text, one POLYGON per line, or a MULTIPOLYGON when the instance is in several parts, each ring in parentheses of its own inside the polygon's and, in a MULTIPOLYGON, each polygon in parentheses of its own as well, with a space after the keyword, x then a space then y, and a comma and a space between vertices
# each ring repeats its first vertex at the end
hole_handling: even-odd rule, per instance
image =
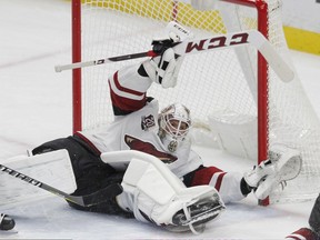
POLYGON ((137 150, 137 151, 152 154, 159 158, 164 163, 172 163, 178 160, 178 158, 174 156, 171 156, 167 152, 159 151, 152 143, 141 141, 140 139, 137 139, 134 137, 126 134, 124 142, 131 150, 137 150))

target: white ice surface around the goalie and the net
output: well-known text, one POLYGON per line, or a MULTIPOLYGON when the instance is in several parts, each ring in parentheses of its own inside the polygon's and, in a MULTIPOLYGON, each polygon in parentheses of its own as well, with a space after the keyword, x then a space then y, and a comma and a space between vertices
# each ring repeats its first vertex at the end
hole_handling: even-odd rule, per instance
MULTIPOLYGON (((70 2, 0 1, 0 161, 44 141, 71 133, 71 72, 56 73, 70 60, 70 2)), ((320 114, 320 58, 291 51, 303 87, 320 114), (318 82, 319 81, 319 82, 318 82)), ((197 149, 224 170, 249 166, 197 149)), ((1 178, 2 176, 0 176, 1 178)), ((251 196, 228 204, 221 218, 200 234, 171 233, 134 219, 80 212, 56 196, 1 206, 16 219, 0 239, 283 239, 307 226, 313 202, 257 206, 251 196)))

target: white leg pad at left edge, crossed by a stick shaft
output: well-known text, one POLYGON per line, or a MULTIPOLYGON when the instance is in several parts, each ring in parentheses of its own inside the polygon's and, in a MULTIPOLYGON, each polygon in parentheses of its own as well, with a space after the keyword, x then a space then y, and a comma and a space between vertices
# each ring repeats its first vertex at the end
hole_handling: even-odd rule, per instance
MULTIPOLYGON (((17 156, 7 159, 1 164, 34 178, 64 192, 76 190, 76 180, 68 151, 57 150, 31 157, 17 156)), ((51 197, 52 194, 40 188, 0 172, 0 204, 18 204, 51 197)))

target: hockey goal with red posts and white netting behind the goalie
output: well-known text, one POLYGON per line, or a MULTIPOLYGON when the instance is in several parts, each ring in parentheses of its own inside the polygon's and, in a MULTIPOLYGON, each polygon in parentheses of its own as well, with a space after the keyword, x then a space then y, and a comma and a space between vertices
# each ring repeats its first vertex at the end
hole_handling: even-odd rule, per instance
MULTIPOLYGON (((188 0, 72 0, 72 62, 150 50, 152 38, 163 36, 172 20, 196 38, 257 29, 290 62, 279 0, 223 0, 206 11, 188 0)), ((142 60, 72 70, 74 132, 112 121, 108 77, 142 60)), ((209 126, 212 141, 232 154, 261 162, 273 144, 298 149, 300 174, 283 192, 272 193, 270 202, 311 199, 320 191, 318 117, 297 74, 281 81, 257 49, 186 56, 178 86, 163 90, 153 84, 149 94, 160 108, 188 106, 198 126, 209 126)))

